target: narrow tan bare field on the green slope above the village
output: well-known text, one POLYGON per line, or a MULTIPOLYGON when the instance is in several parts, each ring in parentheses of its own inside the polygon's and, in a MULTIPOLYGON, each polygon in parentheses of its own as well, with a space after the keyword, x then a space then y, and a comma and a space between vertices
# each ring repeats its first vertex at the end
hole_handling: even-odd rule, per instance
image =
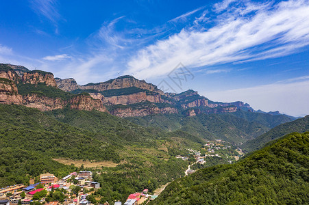
POLYGON ((72 159, 53 159, 54 161, 58 161, 64 165, 74 164, 76 167, 84 167, 92 168, 92 167, 116 167, 116 163, 112 161, 99 161, 99 162, 91 162, 91 161, 82 161, 82 160, 72 160, 72 159))

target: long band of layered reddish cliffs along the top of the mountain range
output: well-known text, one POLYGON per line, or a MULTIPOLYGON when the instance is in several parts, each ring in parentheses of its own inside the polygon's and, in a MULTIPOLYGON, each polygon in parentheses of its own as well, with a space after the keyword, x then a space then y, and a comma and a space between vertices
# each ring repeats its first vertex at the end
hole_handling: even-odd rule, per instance
POLYGON ((99 111, 107 111, 104 105, 109 106, 110 109, 112 109, 114 105, 124 105, 124 107, 118 107, 110 111, 110 113, 120 117, 178 112, 185 113, 185 115, 188 116, 194 116, 201 113, 234 112, 240 108, 253 111, 248 104, 244 104, 243 102, 212 102, 208 100, 208 98, 200 96, 194 90, 187 90, 180 94, 164 93, 162 90, 159 90, 156 85, 140 81, 132 76, 118 77, 103 83, 78 85, 74 79, 54 79, 53 74, 50 72, 42 72, 40 70, 29 71, 23 66, 14 66, 10 64, 2 64, 2 67, 0 64, 0 68, 5 72, 0 72, 0 79, 8 79, 13 82, 5 82, 5 84, 3 81, 0 84, 3 87, 1 90, 1 99, 4 100, 2 101, 19 103, 28 107, 36 107, 44 111, 60 109, 66 105, 70 105, 72 109, 97 109, 99 111), (20 79, 18 74, 12 69, 16 72, 18 70, 19 74, 23 74, 22 79, 20 79), (78 90, 85 90, 91 93, 90 96, 80 95, 70 100, 47 98, 36 94, 20 96, 14 84, 18 82, 34 85, 45 83, 49 86, 59 87, 65 92, 77 90, 76 93, 78 93, 78 90), (125 89, 129 87, 133 89, 125 89), (140 90, 136 87, 140 88, 140 90))

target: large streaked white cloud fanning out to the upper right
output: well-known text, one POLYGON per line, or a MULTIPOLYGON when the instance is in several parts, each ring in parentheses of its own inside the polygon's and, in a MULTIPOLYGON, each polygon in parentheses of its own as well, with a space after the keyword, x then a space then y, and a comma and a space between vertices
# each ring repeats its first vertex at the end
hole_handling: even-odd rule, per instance
POLYGON ((159 77, 180 62, 195 68, 256 61, 289 55, 309 45, 308 1, 240 2, 215 5, 215 10, 225 12, 203 29, 182 29, 141 49, 129 59, 127 72, 159 77))

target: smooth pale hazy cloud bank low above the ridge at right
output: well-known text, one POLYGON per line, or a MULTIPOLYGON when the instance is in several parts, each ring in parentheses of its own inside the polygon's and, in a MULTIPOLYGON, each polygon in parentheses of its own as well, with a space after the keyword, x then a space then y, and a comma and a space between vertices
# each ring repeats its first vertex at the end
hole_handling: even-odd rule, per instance
POLYGON ((299 77, 268 85, 219 92, 201 92, 210 100, 241 100, 254 109, 277 111, 293 116, 309 114, 309 77, 299 77))

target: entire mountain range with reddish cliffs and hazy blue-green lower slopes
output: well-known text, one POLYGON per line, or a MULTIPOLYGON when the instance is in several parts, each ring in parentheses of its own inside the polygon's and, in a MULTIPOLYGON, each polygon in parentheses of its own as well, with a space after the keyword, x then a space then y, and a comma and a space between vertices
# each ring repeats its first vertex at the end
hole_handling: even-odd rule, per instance
POLYGON ((254 111, 244 102, 214 102, 194 90, 164 93, 132 76, 78 85, 51 72, 0 64, 0 103, 40 111, 93 109, 164 131, 185 131, 201 139, 243 143, 296 118, 279 112, 254 111))

